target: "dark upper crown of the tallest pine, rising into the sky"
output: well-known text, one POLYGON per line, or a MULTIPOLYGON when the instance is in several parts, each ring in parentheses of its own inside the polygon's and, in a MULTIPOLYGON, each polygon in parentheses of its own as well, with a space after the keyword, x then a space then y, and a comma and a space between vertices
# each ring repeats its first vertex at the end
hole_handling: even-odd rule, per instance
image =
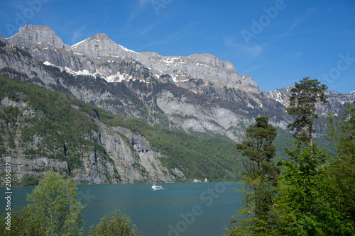
POLYGON ((288 128, 295 131, 294 136, 300 138, 304 142, 310 142, 312 146, 313 119, 318 118, 315 113, 315 104, 317 101, 327 103, 324 94, 328 87, 320 84, 317 79, 305 77, 300 84, 295 83, 295 87, 291 89, 290 106, 286 111, 295 117, 295 121, 288 125, 288 128))

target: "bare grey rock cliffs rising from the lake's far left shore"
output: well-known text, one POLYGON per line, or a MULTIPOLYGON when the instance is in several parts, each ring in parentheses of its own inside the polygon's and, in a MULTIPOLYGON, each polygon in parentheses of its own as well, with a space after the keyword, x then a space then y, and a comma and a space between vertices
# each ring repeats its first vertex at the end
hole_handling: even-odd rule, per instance
MULTIPOLYGON (((23 132, 25 132, 23 128, 28 126, 25 120, 43 119, 46 116, 45 113, 35 111, 23 101, 13 101, 8 97, 0 101, 0 111, 6 111, 10 107, 11 109, 18 108, 21 116, 13 121, 4 119, 4 117, 0 118, 0 146, 5 147, 1 152, 7 153, 3 156, 11 157, 14 181, 21 183, 28 177, 42 179, 50 169, 56 169, 64 175, 70 172, 70 176, 78 184, 175 181, 175 176, 168 174, 169 170, 160 163, 158 158, 162 155, 152 150, 151 145, 143 136, 121 127, 110 128, 98 120, 95 122, 99 130, 93 130, 87 139, 89 142, 97 140, 98 145, 104 147, 104 152, 107 152, 108 157, 96 150, 96 146, 83 147, 75 150, 81 163, 80 168, 70 169, 67 161, 53 158, 58 157, 58 152, 62 150, 49 150, 44 144, 45 136, 35 135, 32 141, 23 142, 23 132), (5 128, 8 131, 4 130, 5 128), (11 139, 13 144, 9 143, 12 142, 11 139), (33 151, 28 152, 28 150, 33 151), (33 154, 36 150, 52 153, 53 157, 48 157, 46 154, 33 154)), ((5 158, 1 158, 0 169, 5 169, 5 158)), ((180 178, 184 179, 185 176, 180 174, 180 178)))

